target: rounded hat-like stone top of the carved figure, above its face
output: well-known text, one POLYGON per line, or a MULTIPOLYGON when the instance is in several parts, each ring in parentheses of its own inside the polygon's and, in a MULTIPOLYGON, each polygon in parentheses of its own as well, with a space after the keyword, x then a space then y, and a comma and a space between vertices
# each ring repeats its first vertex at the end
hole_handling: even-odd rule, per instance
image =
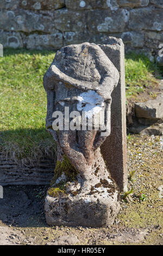
POLYGON ((105 100, 117 86, 119 73, 103 50, 85 42, 62 47, 44 76, 46 90, 55 89, 58 82, 87 92, 95 90, 105 100))

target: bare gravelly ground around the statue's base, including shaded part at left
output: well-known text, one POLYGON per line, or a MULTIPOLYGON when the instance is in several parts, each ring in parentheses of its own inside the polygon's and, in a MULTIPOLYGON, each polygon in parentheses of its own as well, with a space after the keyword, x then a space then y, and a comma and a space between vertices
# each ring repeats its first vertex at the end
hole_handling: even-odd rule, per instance
POLYGON ((6 186, 0 199, 0 245, 162 245, 163 137, 128 136, 131 192, 104 228, 49 227, 46 186, 6 186))

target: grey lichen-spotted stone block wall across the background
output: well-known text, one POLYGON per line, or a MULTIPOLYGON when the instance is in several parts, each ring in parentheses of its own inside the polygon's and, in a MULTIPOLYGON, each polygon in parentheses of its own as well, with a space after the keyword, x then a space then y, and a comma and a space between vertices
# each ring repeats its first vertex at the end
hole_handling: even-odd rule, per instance
POLYGON ((126 50, 158 54, 162 13, 162 0, 0 0, 0 43, 57 50, 112 35, 126 50))

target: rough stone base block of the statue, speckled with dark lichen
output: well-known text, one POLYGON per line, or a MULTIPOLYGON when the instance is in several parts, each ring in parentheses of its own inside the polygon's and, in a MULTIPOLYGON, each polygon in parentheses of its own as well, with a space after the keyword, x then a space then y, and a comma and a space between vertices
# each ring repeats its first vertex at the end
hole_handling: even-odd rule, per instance
POLYGON ((83 182, 78 176, 78 181, 67 182, 66 192, 49 188, 45 199, 49 225, 103 227, 114 222, 120 210, 120 194, 114 181, 91 176, 89 181, 83 182))

